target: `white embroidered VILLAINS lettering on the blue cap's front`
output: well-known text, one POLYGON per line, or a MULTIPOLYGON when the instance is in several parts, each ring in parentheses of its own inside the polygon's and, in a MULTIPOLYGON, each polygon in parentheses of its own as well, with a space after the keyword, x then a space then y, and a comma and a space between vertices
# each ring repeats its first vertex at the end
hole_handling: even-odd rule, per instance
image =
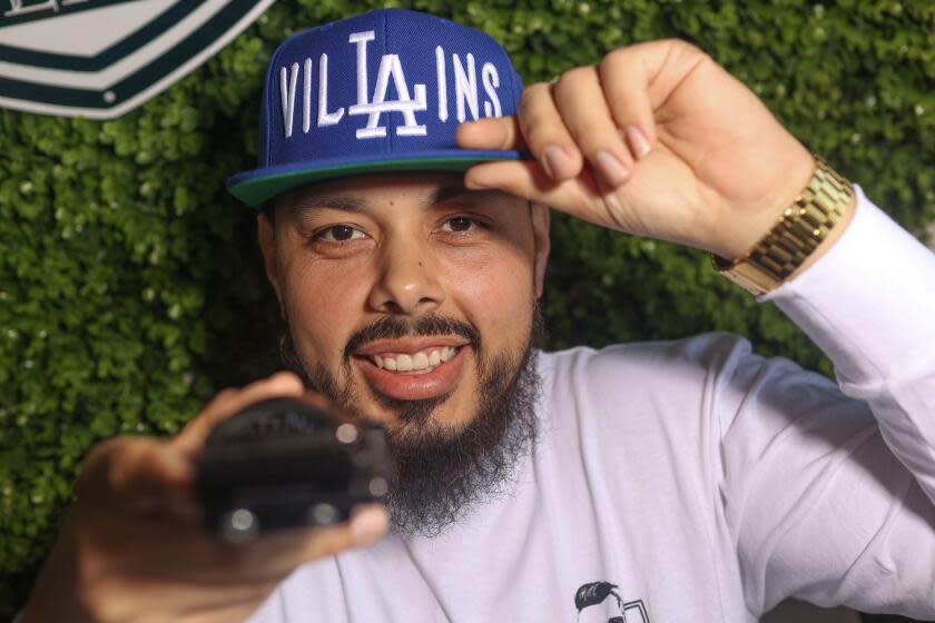
MULTIPOLYGON (((357 102, 345 108, 338 107, 328 111, 328 55, 323 53, 318 59, 318 116, 317 127, 337 125, 346 112, 348 116, 366 115, 367 125, 356 130, 358 139, 383 138, 386 136, 386 126, 382 126, 381 116, 384 112, 396 112, 403 116, 403 125, 396 126, 396 136, 425 136, 427 129, 420 123, 416 112, 427 110, 425 85, 413 85, 415 99, 410 96, 410 88, 406 77, 403 73, 403 66, 398 55, 383 55, 380 58, 380 68, 376 72, 376 85, 374 86, 373 99, 367 100, 367 42, 375 39, 375 32, 352 32, 348 42, 357 47, 357 102), (387 100, 386 95, 392 79, 393 88, 396 90, 397 99, 387 100)), ((463 122, 469 113, 473 119, 483 113, 486 117, 500 117, 501 107, 496 89, 500 87, 500 76, 492 62, 485 62, 481 67, 481 87, 486 100, 483 102, 479 97, 478 71, 474 56, 466 55, 466 68, 459 55, 451 55, 452 70, 454 72, 454 96, 456 118, 463 122)), ((447 68, 445 52, 441 46, 435 47, 435 73, 437 83, 439 120, 446 121, 449 118, 447 108, 447 68)), ((299 66, 297 62, 292 67, 279 68, 279 98, 283 107, 283 130, 286 138, 293 135, 293 119, 295 116, 296 89, 298 87, 299 66)), ((303 63, 302 80, 302 131, 308 134, 312 128, 312 59, 306 58, 303 63)))

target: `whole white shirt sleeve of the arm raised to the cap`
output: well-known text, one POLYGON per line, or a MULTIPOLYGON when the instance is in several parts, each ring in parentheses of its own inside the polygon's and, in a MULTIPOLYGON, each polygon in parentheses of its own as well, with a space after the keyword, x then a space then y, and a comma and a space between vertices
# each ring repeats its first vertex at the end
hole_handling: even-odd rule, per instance
POLYGON ((835 246, 761 298, 837 386, 749 354, 722 370, 719 487, 756 614, 791 596, 935 616, 935 255, 856 195, 835 246))

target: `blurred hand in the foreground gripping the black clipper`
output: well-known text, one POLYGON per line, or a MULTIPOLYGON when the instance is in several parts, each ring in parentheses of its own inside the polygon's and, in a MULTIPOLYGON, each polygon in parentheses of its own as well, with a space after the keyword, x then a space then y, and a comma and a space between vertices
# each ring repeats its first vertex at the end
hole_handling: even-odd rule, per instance
POLYGON ((245 544, 201 527, 195 457, 211 427, 252 403, 303 394, 295 375, 278 374, 222 392, 173 439, 96 447, 20 621, 243 621, 298 565, 378 538, 388 525, 381 506, 358 507, 344 524, 245 544))

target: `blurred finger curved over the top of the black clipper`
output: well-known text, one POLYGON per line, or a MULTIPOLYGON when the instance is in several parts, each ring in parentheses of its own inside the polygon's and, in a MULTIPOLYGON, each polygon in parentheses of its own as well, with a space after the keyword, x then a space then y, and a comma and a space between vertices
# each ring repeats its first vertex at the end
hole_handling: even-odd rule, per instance
POLYGON ((298 398, 305 393, 302 379, 291 372, 276 373, 263 380, 257 380, 243 389, 225 389, 219 393, 205 409, 179 433, 173 444, 189 454, 197 453, 205 443, 211 428, 247 406, 277 397, 298 398))

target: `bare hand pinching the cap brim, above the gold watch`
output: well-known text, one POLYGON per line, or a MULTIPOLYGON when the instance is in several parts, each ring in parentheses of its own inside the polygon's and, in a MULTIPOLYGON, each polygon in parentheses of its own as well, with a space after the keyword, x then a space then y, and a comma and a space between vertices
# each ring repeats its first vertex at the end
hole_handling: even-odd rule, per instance
POLYGON ((516 117, 465 123, 457 140, 535 157, 478 165, 469 187, 727 258, 775 225, 814 170, 749 89, 678 40, 620 48, 531 85, 516 117))

